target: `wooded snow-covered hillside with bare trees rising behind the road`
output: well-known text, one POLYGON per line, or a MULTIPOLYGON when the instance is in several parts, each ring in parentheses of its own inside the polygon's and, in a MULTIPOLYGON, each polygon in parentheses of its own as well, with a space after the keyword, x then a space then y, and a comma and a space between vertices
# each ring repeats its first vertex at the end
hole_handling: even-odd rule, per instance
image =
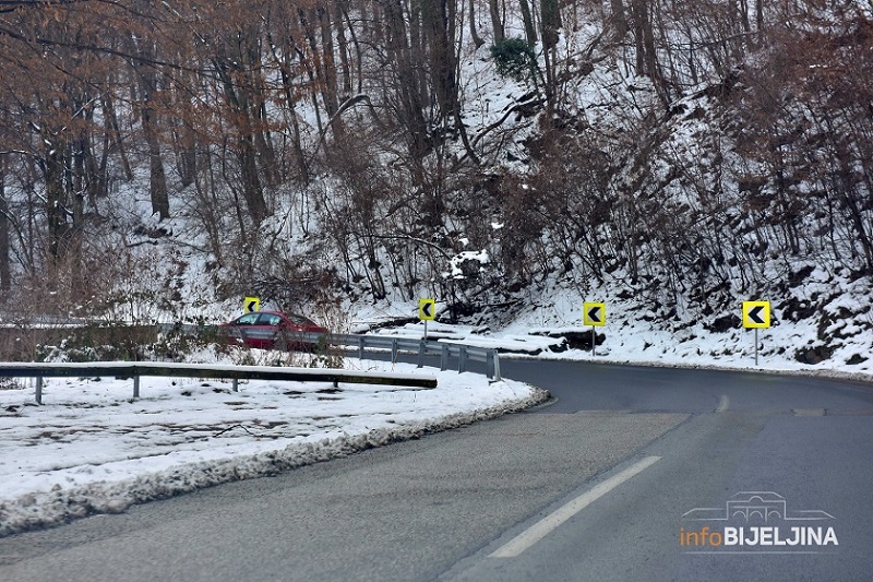
MULTIPOLYGON (((479 4, 429 28, 455 35, 451 55, 439 38, 416 36, 416 19, 434 15, 403 2, 398 21, 368 1, 349 4, 357 19, 322 14, 321 44, 313 36, 306 50, 278 41, 310 34, 306 17, 259 21, 252 34, 270 39, 255 44, 270 48, 259 63, 235 60, 231 49, 242 48, 229 40, 201 47, 204 56, 176 38, 168 59, 187 55, 215 76, 191 103, 175 92, 186 80, 172 67, 163 81, 121 70, 139 91, 163 91, 117 104, 104 95, 91 111, 89 135, 107 131, 91 145, 111 174, 106 192, 76 174, 85 158, 68 168, 70 180, 51 182, 58 152, 44 146, 58 140, 37 140, 34 128, 46 127, 31 120, 26 143, 3 157, 19 261, 4 321, 22 330, 47 313, 220 322, 258 296, 349 331, 403 325, 419 297, 434 297, 442 322, 560 334, 579 326, 583 301, 599 300, 605 353, 648 358, 651 346, 674 344, 680 359, 725 360, 748 352, 739 306, 758 299, 774 308, 764 357, 864 368, 873 348, 873 132, 859 82, 873 71, 868 7, 755 3, 741 14, 730 3, 657 3, 636 22, 620 3, 569 2, 546 15, 543 3, 530 20, 505 2, 498 23, 479 4), (384 26, 396 26, 393 36, 384 26), (330 50, 336 58, 320 58, 330 50), (454 73, 439 74, 449 62, 454 73), (344 74, 347 86, 331 94, 344 74), (419 110, 407 83, 427 97, 419 110), (239 109, 242 97, 250 111, 239 109), (110 127, 112 112, 121 127, 110 127), (268 123, 249 127, 247 114, 268 123), (115 143, 119 131, 139 146, 115 143), (43 174, 25 151, 45 158, 43 174), (155 210, 158 162, 169 216, 155 210), (64 212, 48 224, 44 193, 76 185, 81 195, 58 199, 64 212)), ((571 345, 585 342, 576 335, 571 345)))

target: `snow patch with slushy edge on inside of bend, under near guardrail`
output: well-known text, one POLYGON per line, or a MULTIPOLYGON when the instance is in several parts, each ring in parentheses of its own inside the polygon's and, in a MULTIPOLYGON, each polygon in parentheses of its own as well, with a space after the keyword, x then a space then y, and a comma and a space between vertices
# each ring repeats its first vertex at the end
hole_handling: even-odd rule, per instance
POLYGON ((0 535, 229 480, 274 474, 500 416, 546 394, 475 373, 346 360, 436 376, 436 389, 143 378, 49 379, 0 389, 0 535))

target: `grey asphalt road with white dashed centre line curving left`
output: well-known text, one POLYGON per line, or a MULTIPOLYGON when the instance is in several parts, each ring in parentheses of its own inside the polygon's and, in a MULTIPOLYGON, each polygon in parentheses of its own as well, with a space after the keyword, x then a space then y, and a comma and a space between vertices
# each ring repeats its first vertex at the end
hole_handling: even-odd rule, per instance
POLYGON ((0 580, 873 577, 873 389, 706 370, 502 365, 505 377, 547 388, 557 401, 2 538, 0 580), (729 507, 751 518, 725 519, 729 507), (766 521, 754 513, 762 507, 766 521), (826 539, 773 542, 794 526, 826 539), (769 543, 728 545, 729 527, 769 543))

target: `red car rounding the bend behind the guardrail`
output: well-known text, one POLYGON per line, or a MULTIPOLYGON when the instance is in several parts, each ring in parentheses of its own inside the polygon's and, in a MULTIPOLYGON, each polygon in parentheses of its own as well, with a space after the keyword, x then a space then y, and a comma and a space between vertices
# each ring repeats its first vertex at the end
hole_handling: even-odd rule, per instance
POLYGON ((264 349, 311 349, 327 330, 303 316, 282 311, 246 313, 222 325, 230 343, 264 349))

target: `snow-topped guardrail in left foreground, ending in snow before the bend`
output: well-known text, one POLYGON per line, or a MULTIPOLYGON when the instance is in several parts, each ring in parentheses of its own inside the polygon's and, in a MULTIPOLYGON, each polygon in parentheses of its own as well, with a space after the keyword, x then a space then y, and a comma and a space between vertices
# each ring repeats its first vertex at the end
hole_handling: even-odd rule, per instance
POLYGON ((231 379, 234 392, 239 380, 284 380, 297 382, 339 382, 358 384, 403 385, 410 388, 436 388, 436 378, 430 376, 394 372, 351 372, 335 369, 277 368, 267 366, 213 366, 208 364, 175 364, 164 361, 97 361, 97 363, 2 363, 0 377, 36 378, 34 393, 37 404, 43 404, 44 378, 80 378, 115 376, 133 378, 133 397, 140 397, 141 376, 181 378, 231 379))

